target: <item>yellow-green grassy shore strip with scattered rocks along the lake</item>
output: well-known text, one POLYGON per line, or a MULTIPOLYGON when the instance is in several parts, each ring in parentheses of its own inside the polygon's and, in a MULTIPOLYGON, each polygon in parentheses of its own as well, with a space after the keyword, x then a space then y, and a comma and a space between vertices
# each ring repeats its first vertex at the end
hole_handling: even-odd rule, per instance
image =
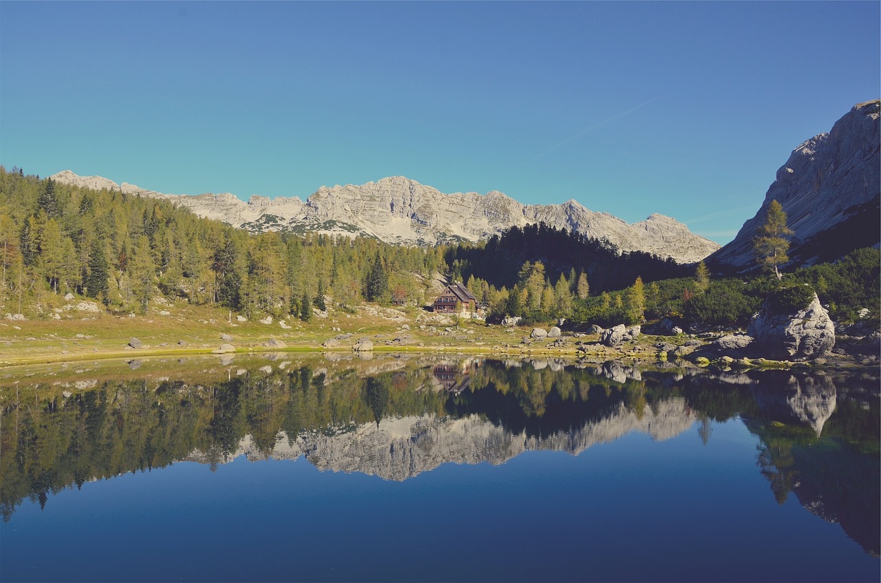
MULTIPOLYGON (((366 306, 360 315, 332 311, 304 322, 241 321, 227 310, 208 306, 174 306, 174 314, 114 316, 107 313, 63 320, 0 321, 0 374, 19 366, 79 363, 115 358, 182 358, 190 356, 352 354, 361 340, 373 344, 371 354, 462 354, 483 358, 564 358, 600 364, 683 366, 718 365, 720 368, 800 368, 809 370, 873 370, 878 363, 859 362, 860 355, 838 350, 818 361, 725 358, 707 352, 719 336, 734 332, 655 336, 640 334, 616 347, 599 343, 599 335, 564 330, 555 338, 532 338, 529 327, 487 326, 421 308, 366 306), (175 309, 177 308, 177 309, 175 309), (137 342, 134 342, 136 341, 137 342), (130 343, 140 344, 132 348, 130 343), (222 347, 221 344, 232 345, 222 347), (327 344, 327 345, 325 345, 327 344), (683 347, 685 354, 670 348, 683 347), (670 351, 670 354, 667 353, 670 351), (725 361, 722 362, 722 358, 725 361)), ((167 312, 165 314, 168 314, 167 312)), ((541 328, 540 326, 537 328, 541 328)), ((733 356, 733 355, 732 355, 733 356)), ((863 359, 865 360, 865 359, 863 359)))

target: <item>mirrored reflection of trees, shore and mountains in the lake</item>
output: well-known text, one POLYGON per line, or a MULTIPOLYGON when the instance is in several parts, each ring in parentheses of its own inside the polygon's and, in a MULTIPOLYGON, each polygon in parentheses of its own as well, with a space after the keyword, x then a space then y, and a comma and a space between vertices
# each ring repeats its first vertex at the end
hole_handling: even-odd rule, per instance
POLYGON ((45 506, 65 487, 174 461, 304 456, 319 469, 405 480, 448 462, 579 454, 631 432, 663 440, 696 428, 706 441, 712 422, 739 416, 759 437, 757 471, 778 501, 795 493, 879 550, 877 379, 431 358, 221 373, 4 387, 4 520, 26 498, 45 506))

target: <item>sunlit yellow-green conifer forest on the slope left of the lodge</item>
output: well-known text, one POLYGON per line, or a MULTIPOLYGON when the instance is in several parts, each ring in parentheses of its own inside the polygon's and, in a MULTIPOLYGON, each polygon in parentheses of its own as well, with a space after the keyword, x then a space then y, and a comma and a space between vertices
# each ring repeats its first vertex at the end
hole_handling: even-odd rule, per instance
POLYGON ((243 314, 308 314, 324 296, 419 304, 442 250, 250 234, 171 203, 57 184, 0 166, 0 311, 48 317, 71 292, 115 313, 159 296, 243 314))

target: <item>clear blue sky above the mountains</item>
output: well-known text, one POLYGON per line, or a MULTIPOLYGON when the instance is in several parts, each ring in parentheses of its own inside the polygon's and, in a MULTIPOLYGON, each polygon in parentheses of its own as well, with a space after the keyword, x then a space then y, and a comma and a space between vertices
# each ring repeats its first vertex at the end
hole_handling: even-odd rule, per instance
POLYGON ((0 164, 305 198, 403 175, 721 243, 881 93, 878 2, 0 2, 0 164))

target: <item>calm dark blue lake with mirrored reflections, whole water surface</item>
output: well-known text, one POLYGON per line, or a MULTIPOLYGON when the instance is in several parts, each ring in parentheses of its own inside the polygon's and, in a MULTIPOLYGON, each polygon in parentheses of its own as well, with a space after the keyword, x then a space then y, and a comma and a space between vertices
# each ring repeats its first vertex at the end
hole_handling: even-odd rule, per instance
POLYGON ((877 375, 290 354, 6 373, 4 582, 879 579, 877 375))

